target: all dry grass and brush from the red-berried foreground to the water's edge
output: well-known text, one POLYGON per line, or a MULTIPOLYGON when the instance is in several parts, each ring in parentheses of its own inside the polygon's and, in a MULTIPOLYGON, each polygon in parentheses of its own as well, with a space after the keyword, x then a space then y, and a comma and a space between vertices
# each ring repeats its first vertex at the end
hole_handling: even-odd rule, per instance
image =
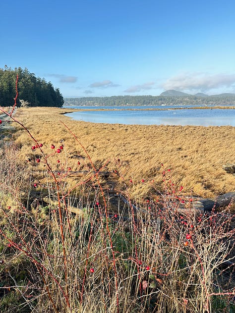
POLYGON ((62 111, 17 110, 29 133, 1 142, 0 311, 232 313, 231 206, 194 214, 189 197, 179 209, 182 194, 232 191, 220 164, 234 128, 101 125, 62 111))

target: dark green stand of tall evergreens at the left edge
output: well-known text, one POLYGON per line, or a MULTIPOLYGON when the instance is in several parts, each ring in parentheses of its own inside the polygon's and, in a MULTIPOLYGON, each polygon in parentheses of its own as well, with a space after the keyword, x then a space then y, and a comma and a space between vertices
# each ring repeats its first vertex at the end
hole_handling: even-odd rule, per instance
POLYGON ((44 78, 36 77, 27 68, 0 68, 0 105, 14 104, 15 81, 18 74, 17 106, 62 106, 64 101, 58 88, 44 78))

